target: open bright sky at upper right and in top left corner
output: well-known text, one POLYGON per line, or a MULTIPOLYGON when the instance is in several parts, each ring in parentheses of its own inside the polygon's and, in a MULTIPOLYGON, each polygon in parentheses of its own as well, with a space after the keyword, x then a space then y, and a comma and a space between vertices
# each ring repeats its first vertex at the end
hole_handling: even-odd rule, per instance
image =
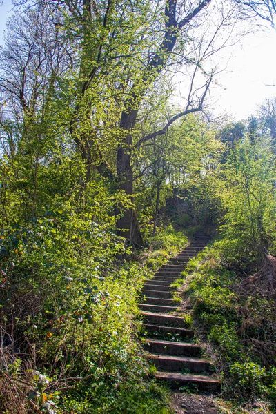
MULTIPOLYGON (((0 0, 1 3, 1 0, 0 0)), ((0 6, 0 44, 6 19, 12 15, 10 0, 0 6)), ((227 113, 236 120, 252 115, 257 105, 276 97, 276 30, 248 35, 231 50, 225 49, 221 62, 226 68, 213 88, 213 108, 217 115, 227 113)))

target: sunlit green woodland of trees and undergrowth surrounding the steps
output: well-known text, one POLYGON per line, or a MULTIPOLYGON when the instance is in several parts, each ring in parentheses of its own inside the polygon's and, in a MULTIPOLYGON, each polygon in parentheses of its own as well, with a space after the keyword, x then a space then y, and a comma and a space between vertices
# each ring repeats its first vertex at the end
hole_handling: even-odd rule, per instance
POLYGON ((1 414, 174 413, 144 356, 139 295, 198 231, 211 242, 177 287, 221 380, 218 412, 275 412, 276 98, 241 121, 208 108, 213 57, 273 26, 275 1, 13 4, 1 414))

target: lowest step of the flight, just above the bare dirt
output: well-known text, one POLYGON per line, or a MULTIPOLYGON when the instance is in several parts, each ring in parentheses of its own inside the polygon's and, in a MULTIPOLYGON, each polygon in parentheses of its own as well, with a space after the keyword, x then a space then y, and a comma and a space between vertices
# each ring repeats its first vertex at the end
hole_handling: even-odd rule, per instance
POLYGON ((181 373, 168 373, 157 371, 155 377, 158 380, 166 381, 170 384, 172 389, 177 389, 183 386, 193 384, 198 391, 219 391, 221 384, 217 378, 208 377, 206 375, 193 375, 181 373))

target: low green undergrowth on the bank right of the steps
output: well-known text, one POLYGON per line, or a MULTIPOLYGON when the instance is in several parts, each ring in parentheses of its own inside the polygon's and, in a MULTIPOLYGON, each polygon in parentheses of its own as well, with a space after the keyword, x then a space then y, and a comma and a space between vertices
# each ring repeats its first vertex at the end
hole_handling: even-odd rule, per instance
POLYGON ((266 255, 248 275, 231 268, 224 244, 215 242, 190 260, 185 300, 223 395, 232 400, 221 412, 270 413, 276 408, 276 259, 266 255))

